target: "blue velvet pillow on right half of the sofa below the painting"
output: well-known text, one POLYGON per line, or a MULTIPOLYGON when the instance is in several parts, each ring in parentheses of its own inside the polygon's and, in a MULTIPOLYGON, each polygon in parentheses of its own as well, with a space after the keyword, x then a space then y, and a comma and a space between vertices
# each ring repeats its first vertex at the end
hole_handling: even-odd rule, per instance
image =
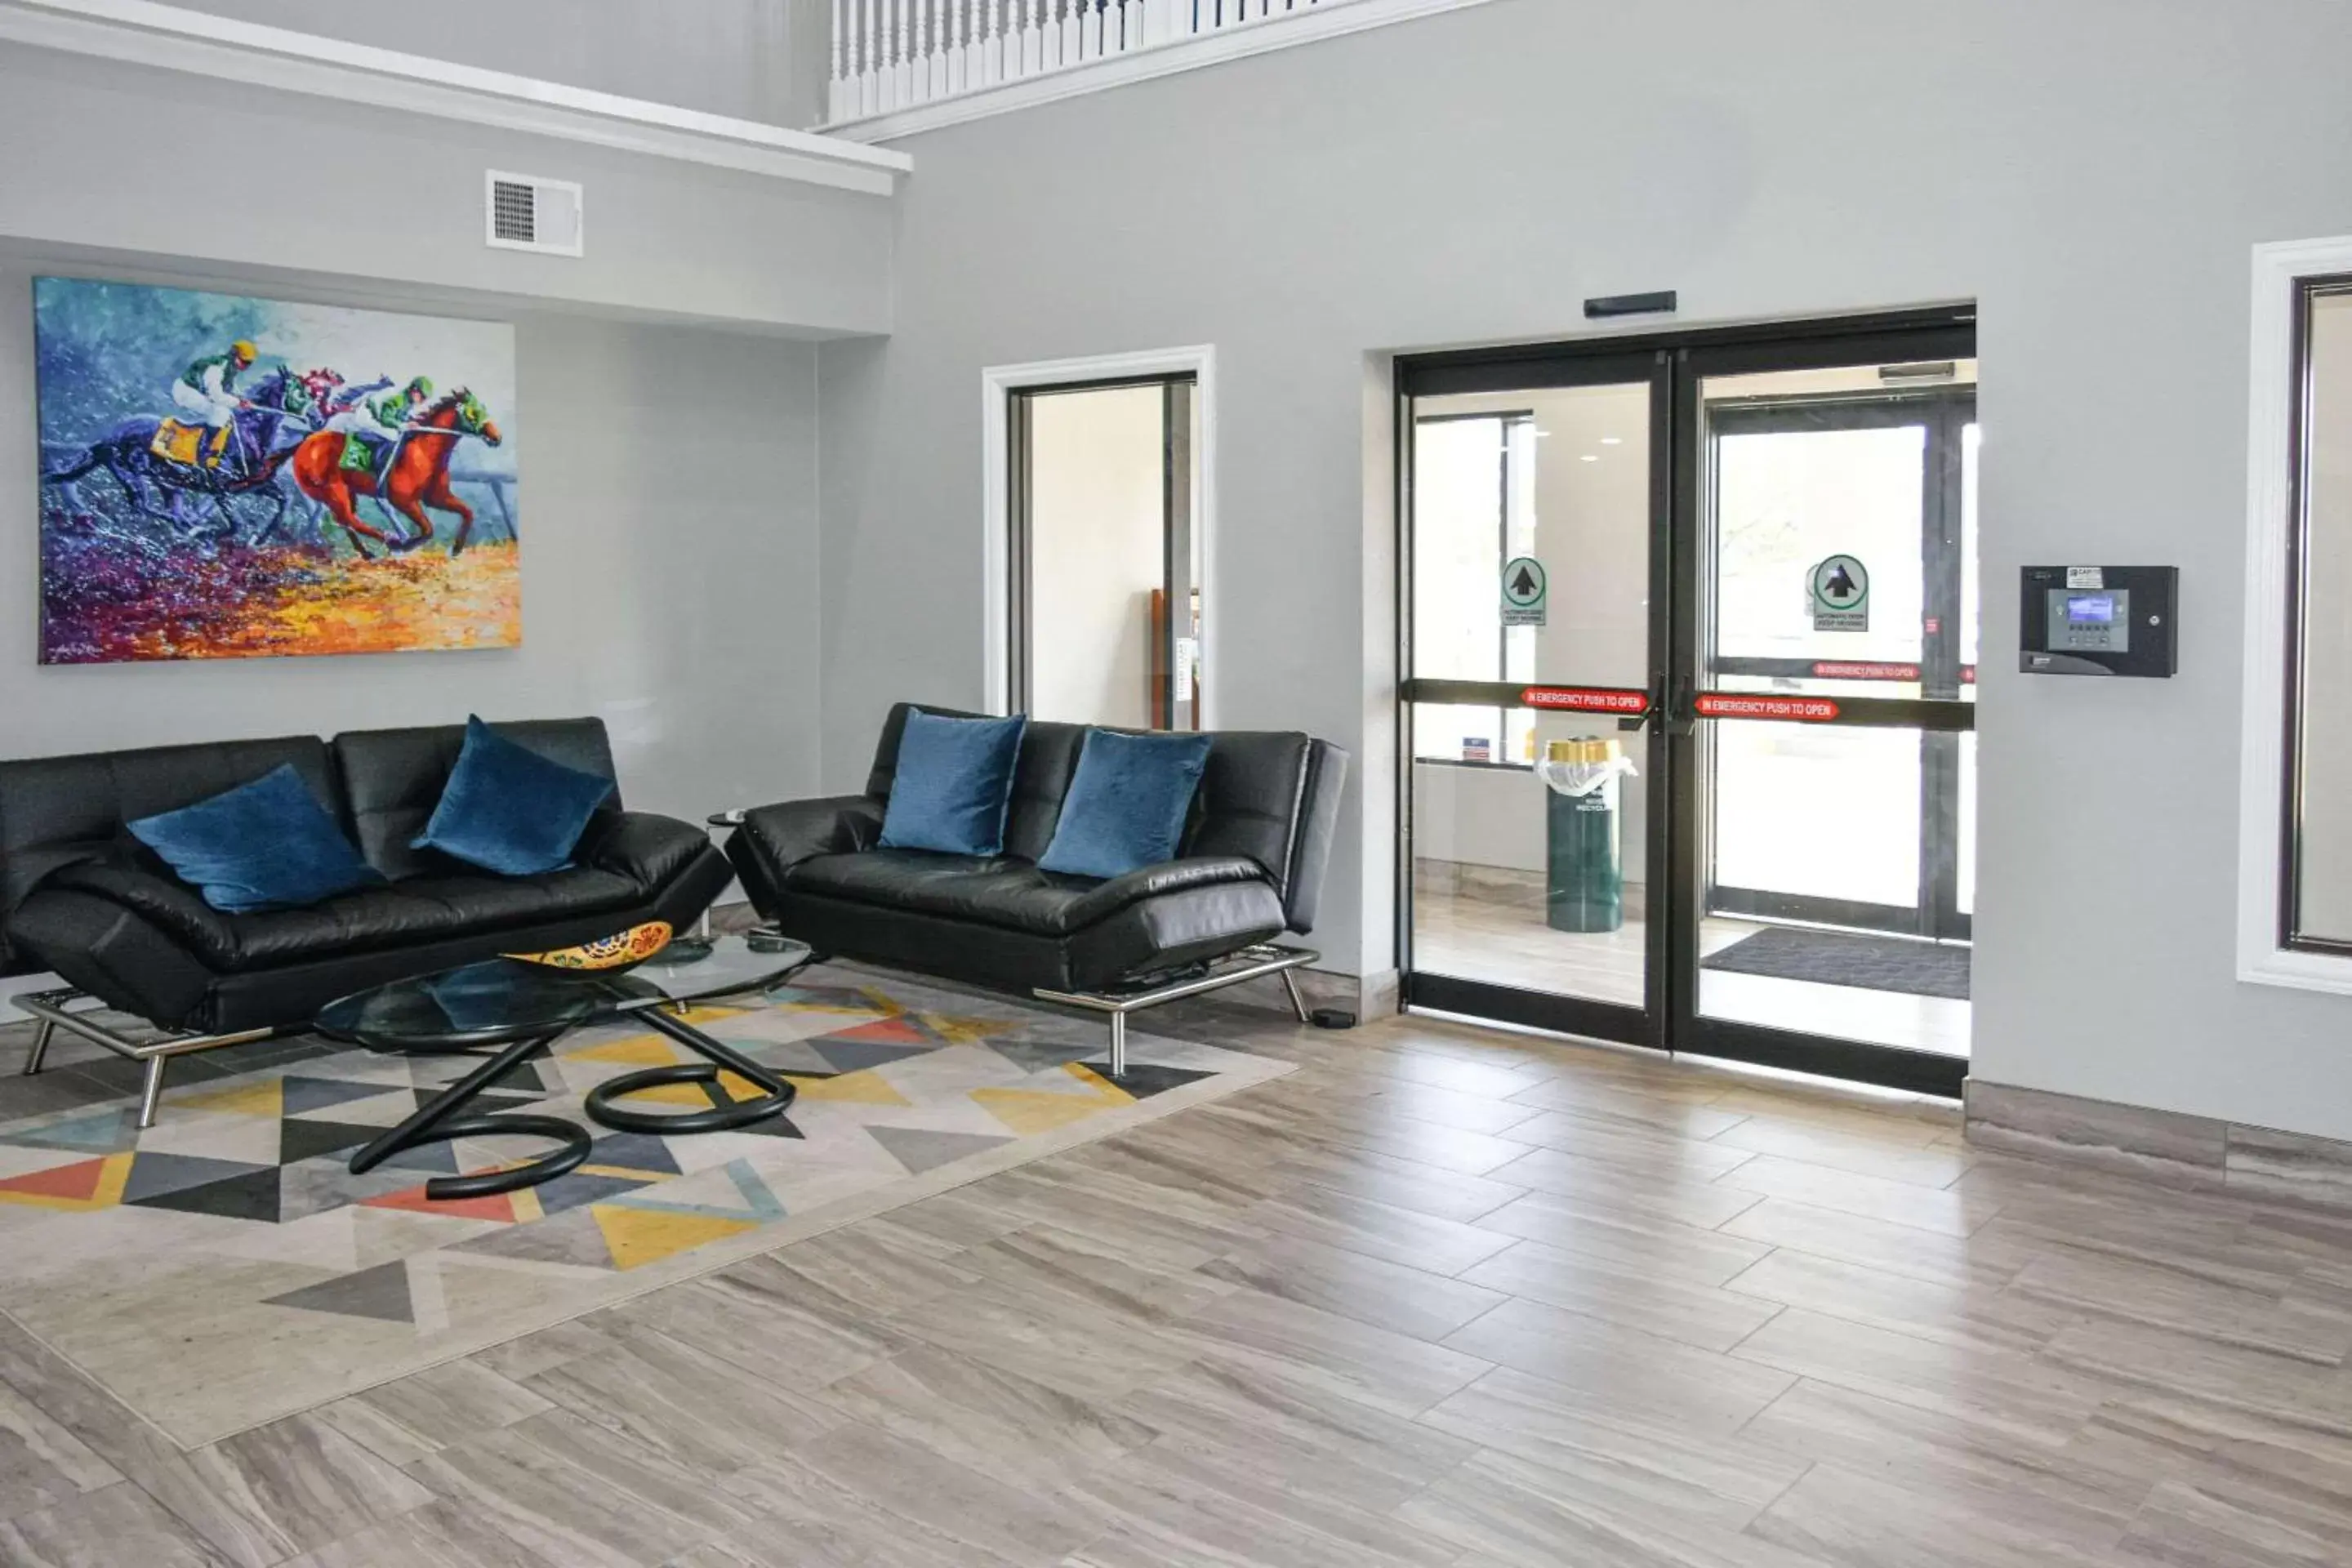
POLYGON ((602 773, 567 769, 468 717, 433 820, 409 849, 437 849, 501 877, 555 872, 572 865, 607 795, 612 780, 602 773))

